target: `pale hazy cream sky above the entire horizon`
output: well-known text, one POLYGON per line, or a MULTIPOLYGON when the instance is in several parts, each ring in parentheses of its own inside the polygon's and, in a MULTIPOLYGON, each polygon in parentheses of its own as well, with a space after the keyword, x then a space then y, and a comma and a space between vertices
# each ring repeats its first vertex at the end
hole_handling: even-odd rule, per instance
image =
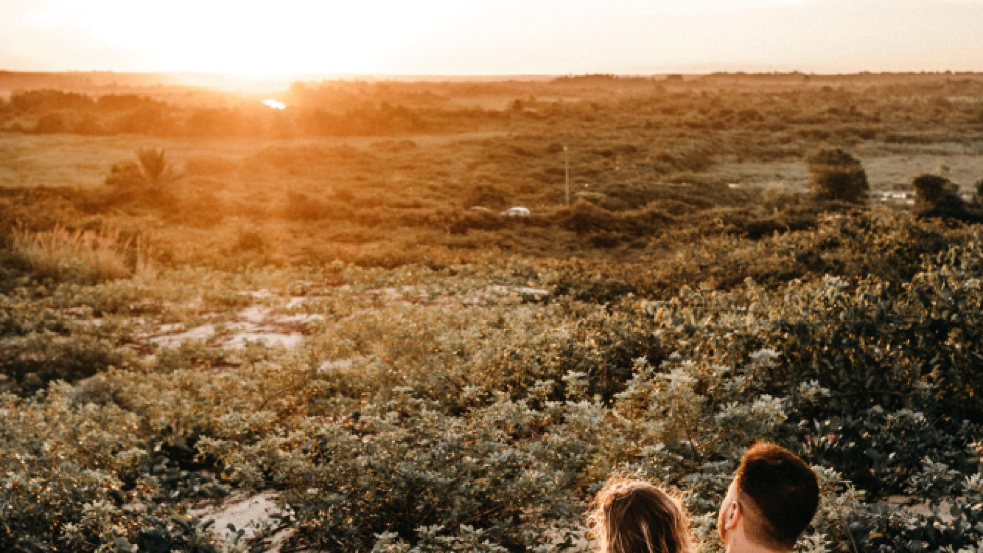
POLYGON ((983 71, 983 0, 0 0, 0 69, 983 71))

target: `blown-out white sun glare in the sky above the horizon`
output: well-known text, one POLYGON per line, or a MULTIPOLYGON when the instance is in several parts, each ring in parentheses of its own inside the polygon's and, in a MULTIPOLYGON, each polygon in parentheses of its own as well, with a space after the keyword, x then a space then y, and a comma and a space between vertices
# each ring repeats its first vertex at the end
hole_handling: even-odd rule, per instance
POLYGON ((32 23, 68 26, 168 70, 272 76, 379 71, 459 12, 449 2, 438 2, 439 10, 369 4, 240 0, 229 9, 224 2, 173 0, 148 20, 141 2, 58 1, 32 23))

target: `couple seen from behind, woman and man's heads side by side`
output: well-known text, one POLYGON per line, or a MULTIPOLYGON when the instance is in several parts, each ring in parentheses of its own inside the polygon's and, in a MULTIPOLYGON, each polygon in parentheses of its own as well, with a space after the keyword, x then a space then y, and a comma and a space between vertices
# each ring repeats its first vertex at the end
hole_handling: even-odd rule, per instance
MULTIPOLYGON (((819 505, 816 473, 788 450, 757 444, 741 460, 717 520, 727 553, 790 552, 819 505)), ((591 513, 602 553, 695 553, 682 504, 640 480, 613 479, 591 513)))

